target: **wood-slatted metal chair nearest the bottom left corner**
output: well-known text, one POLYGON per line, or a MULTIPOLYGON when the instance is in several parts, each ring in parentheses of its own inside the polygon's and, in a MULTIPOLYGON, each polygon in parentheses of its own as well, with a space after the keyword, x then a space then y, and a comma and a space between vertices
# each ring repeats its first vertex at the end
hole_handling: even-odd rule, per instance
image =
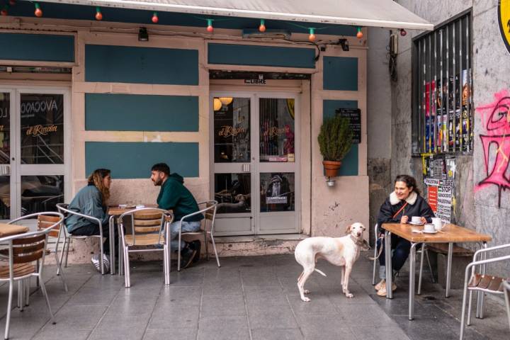
MULTIPOLYGON (((54 227, 62 223, 64 216, 58 212, 39 212, 36 214, 23 216, 17 220, 11 221, 11 223, 38 215, 57 215, 60 217, 60 220, 57 221, 54 225, 50 225, 50 227, 42 229, 38 232, 28 232, 26 234, 18 234, 10 237, 3 237, 0 239, 0 243, 8 244, 8 248, 2 249, 0 251, 0 260, 3 260, 0 261, 0 282, 8 281, 9 283, 6 329, 4 334, 5 339, 8 339, 9 336, 13 285, 16 281, 18 281, 18 305, 20 305, 22 308, 24 302, 23 295, 26 293, 26 288, 30 287, 30 285, 27 285, 26 281, 29 281, 33 276, 39 279, 42 295, 45 297, 52 323, 55 324, 55 319, 51 310, 50 300, 47 296, 45 283, 44 280, 42 280, 42 268, 44 268, 48 234, 54 227), (40 265, 35 266, 33 262, 38 261, 40 261, 40 265)), ((26 297, 28 297, 28 295, 26 297)))

